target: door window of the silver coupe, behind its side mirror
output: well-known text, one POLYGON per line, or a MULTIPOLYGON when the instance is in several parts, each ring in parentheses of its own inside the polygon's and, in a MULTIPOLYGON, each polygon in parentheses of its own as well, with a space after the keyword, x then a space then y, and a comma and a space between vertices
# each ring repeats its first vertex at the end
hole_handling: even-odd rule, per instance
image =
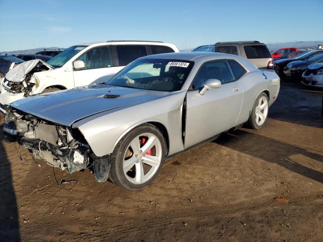
POLYGON ((218 79, 222 84, 234 81, 228 62, 224 60, 204 64, 194 78, 192 89, 202 88, 207 79, 218 79))

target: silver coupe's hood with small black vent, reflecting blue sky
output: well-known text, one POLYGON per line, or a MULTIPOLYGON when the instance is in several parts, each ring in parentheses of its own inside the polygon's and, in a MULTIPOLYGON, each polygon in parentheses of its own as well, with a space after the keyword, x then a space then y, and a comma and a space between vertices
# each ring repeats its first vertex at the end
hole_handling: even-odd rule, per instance
POLYGON ((99 112, 150 101, 168 94, 169 92, 90 85, 23 98, 10 106, 56 124, 71 126, 76 121, 99 112))

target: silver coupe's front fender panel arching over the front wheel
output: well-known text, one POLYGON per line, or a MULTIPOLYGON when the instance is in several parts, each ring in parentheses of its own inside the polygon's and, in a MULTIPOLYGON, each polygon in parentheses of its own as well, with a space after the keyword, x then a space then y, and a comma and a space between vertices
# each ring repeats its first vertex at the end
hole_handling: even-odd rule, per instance
POLYGON ((182 105, 186 91, 152 101, 114 108, 84 118, 72 125, 78 128, 100 157, 111 154, 118 142, 135 127, 147 123, 162 124, 169 134, 169 154, 184 149, 182 142, 182 105))

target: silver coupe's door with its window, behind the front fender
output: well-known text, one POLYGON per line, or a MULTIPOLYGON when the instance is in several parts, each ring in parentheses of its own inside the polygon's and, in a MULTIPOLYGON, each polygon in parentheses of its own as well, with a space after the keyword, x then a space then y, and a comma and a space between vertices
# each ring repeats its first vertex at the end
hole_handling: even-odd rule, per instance
POLYGON ((242 101, 243 90, 227 60, 203 64, 187 92, 185 148, 234 127, 242 101), (218 79, 222 85, 200 95, 199 90, 208 79, 218 79))

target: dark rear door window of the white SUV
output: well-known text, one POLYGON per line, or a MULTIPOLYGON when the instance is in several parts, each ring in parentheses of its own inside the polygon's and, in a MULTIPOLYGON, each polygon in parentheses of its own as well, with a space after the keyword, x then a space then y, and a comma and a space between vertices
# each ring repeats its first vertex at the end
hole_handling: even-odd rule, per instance
POLYGON ((145 45, 119 45, 116 46, 119 59, 119 66, 127 66, 142 56, 147 55, 145 45))

